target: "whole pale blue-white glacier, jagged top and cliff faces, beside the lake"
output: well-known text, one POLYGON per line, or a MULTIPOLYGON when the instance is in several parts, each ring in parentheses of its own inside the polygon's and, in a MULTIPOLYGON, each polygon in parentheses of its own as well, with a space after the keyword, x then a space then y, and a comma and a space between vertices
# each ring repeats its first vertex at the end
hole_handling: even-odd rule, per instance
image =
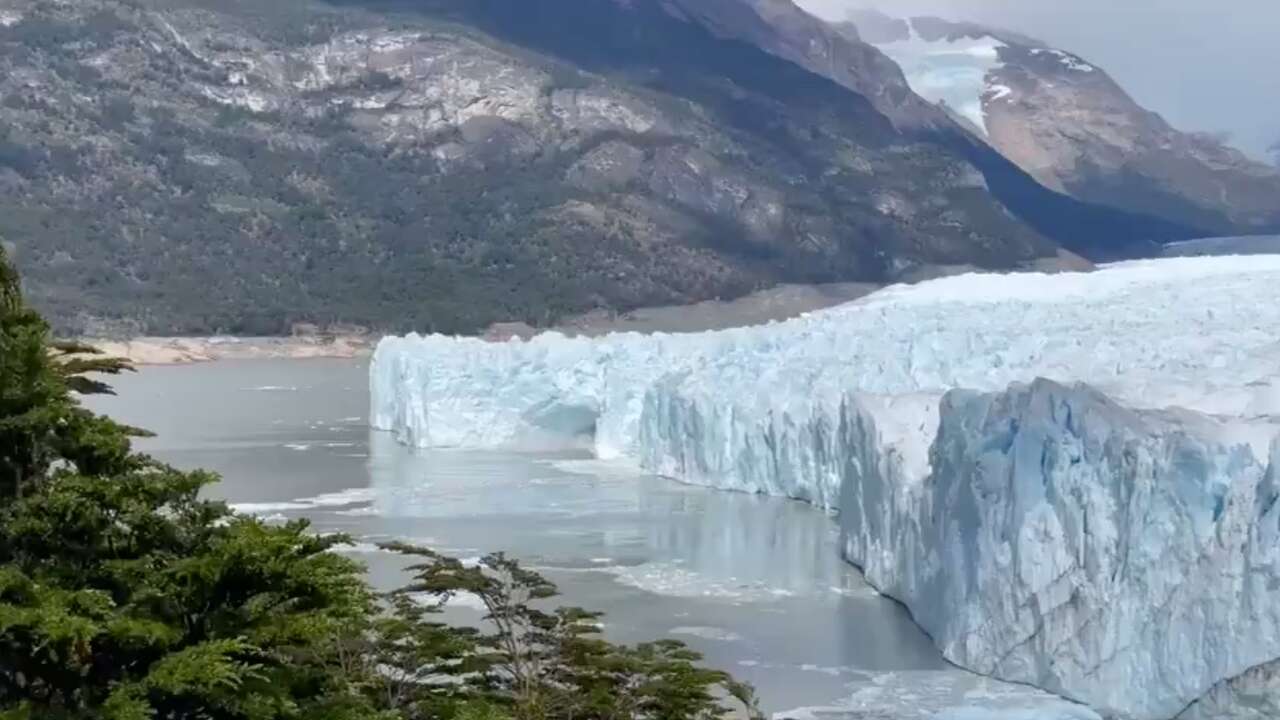
POLYGON ((961 275, 708 333, 387 338, 371 388, 412 446, 586 442, 838 509, 950 660, 1103 715, 1280 697, 1280 256, 961 275))

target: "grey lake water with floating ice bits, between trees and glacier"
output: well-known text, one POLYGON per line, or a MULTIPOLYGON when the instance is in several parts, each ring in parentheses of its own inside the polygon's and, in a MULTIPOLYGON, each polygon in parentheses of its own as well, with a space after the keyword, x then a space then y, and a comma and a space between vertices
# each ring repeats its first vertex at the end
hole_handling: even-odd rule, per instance
MULTIPOLYGON (((96 410, 157 432, 140 448, 224 482, 264 518, 349 534, 394 588, 402 539, 458 556, 504 550, 618 642, 673 637, 788 717, 1076 719, 1075 706, 950 667, 908 614, 838 559, 808 505, 682 486, 586 454, 410 451, 370 432, 367 365, 224 361, 143 368, 96 410), (799 711, 796 708, 809 708, 799 711)), ((461 601, 460 621, 477 610, 461 601)))

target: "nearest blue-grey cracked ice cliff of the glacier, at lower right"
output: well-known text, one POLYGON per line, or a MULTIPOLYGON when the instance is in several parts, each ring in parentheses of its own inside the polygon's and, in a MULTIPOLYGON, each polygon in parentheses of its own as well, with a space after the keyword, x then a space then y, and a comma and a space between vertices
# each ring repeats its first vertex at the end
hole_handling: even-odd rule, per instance
POLYGON ((841 529, 950 660, 1167 719, 1280 656, 1280 450, 1043 379, 940 418, 931 474, 864 473, 841 529))

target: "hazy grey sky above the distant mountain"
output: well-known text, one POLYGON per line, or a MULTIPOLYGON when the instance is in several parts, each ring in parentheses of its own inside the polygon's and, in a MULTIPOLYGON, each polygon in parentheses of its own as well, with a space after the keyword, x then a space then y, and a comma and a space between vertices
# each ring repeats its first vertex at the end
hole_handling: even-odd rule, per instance
POLYGON ((1102 65, 1180 129, 1226 131, 1260 158, 1280 141, 1280 0, 797 0, 840 18, 878 6, 998 24, 1102 65))

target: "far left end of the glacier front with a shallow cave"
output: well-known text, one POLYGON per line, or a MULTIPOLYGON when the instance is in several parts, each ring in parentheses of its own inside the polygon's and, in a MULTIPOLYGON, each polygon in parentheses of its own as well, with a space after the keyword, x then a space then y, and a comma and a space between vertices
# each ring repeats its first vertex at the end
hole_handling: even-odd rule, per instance
POLYGON ((708 336, 547 333, 529 342, 385 338, 370 370, 375 428, 416 447, 548 447, 586 441, 605 459, 635 454, 645 389, 750 331, 708 336))

